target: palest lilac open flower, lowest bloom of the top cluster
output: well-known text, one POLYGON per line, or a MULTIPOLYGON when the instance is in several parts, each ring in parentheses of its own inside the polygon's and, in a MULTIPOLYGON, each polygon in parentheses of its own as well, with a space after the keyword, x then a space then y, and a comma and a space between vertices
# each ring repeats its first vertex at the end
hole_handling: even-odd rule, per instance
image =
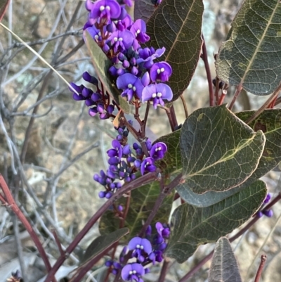
POLYGON ((157 105, 162 105, 164 107, 164 101, 163 99, 166 99, 168 101, 171 101, 173 98, 173 92, 171 91, 170 86, 159 83, 159 84, 150 84, 148 86, 145 86, 143 89, 143 103, 145 101, 152 100, 153 106, 156 109, 157 105))

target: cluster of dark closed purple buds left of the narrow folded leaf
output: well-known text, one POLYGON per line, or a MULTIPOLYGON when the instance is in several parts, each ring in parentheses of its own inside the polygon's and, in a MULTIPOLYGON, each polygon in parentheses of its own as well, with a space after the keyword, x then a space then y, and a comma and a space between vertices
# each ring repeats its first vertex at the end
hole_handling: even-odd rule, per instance
POLYGON ((83 84, 77 85, 73 82, 70 83, 72 88, 70 91, 73 93, 73 98, 75 101, 85 101, 85 104, 89 107, 89 115, 94 117, 95 115, 99 115, 100 120, 106 120, 109 117, 113 117, 112 113, 115 110, 114 102, 110 104, 110 96, 108 94, 104 94, 98 88, 98 79, 89 74, 89 72, 83 73, 83 79, 93 86, 96 86, 96 92, 94 92, 91 88, 87 88, 83 84), (74 91, 74 90, 75 91, 74 91))

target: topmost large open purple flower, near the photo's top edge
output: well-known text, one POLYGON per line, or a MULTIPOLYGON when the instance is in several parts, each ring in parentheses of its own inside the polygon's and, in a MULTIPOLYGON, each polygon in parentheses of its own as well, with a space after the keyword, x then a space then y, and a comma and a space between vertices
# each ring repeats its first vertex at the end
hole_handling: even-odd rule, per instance
POLYGON ((91 8, 89 20, 92 24, 96 23, 98 18, 108 22, 111 18, 118 18, 121 13, 121 7, 115 0, 98 0, 89 8, 91 8))

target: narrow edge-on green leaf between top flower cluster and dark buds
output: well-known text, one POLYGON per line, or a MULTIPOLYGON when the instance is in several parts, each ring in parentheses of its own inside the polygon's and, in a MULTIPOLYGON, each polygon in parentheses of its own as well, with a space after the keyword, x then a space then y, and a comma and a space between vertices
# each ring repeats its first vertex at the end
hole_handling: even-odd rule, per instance
POLYGON ((93 40, 91 34, 85 30, 84 39, 86 46, 89 50, 93 61, 93 67, 96 70, 100 82, 102 82, 104 89, 110 94, 111 98, 115 100, 117 105, 124 111, 124 113, 130 112, 129 103, 122 98, 120 91, 116 88, 115 84, 110 80, 108 70, 112 63, 107 58, 100 46, 93 40))

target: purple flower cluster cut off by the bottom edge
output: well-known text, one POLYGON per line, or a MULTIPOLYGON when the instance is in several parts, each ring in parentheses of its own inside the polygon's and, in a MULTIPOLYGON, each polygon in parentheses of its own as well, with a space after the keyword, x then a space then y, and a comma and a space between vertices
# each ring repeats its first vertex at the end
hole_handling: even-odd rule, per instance
POLYGON ((152 228, 148 226, 146 238, 134 237, 129 241, 128 246, 124 247, 120 256, 119 262, 107 261, 105 265, 111 267, 112 274, 117 274, 121 271, 121 276, 124 281, 143 282, 141 278, 148 273, 150 269, 144 266, 155 262, 162 262, 163 252, 166 249, 166 239, 169 238, 170 229, 166 224, 157 222, 155 224, 157 234, 152 237, 152 228), (124 264, 127 250, 131 251, 131 259, 134 262, 124 264))

